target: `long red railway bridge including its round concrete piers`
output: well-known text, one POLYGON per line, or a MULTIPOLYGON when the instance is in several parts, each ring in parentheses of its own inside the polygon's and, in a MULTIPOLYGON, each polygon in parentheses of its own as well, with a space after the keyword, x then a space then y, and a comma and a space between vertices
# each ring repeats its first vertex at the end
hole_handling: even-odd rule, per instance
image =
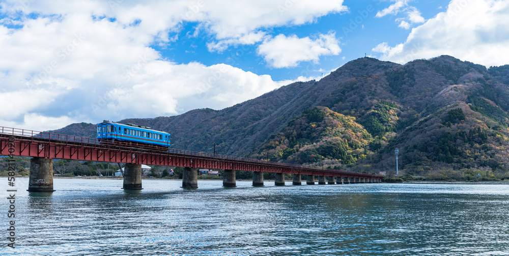
POLYGON ((263 186, 263 173, 274 173, 275 185, 285 185, 285 174, 293 174, 293 184, 344 184, 381 182, 383 176, 344 170, 308 167, 243 157, 151 145, 133 145, 127 141, 103 141, 95 138, 39 132, 0 126, 0 155, 32 157, 29 191, 53 191, 53 159, 125 163, 125 189, 142 189, 142 164, 181 166, 183 188, 197 188, 197 169, 223 169, 223 186, 235 187, 235 170, 253 172, 253 186, 263 186), (328 181, 326 180, 328 179, 328 181), (336 181, 337 179, 337 181, 336 181))

